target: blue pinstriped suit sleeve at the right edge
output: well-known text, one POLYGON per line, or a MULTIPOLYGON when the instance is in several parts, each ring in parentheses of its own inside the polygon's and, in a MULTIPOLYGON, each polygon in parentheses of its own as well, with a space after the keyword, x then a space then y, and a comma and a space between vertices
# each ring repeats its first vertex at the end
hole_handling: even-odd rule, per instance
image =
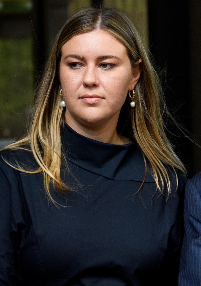
POLYGON ((201 286, 201 172, 186 183, 179 286, 201 286))

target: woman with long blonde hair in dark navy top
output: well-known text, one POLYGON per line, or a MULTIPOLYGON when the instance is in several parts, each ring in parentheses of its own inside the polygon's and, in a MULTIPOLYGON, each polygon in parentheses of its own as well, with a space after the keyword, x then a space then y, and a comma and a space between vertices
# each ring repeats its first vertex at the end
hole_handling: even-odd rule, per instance
POLYGON ((185 168, 129 19, 72 16, 34 106, 2 152, 1 285, 177 285, 185 168))

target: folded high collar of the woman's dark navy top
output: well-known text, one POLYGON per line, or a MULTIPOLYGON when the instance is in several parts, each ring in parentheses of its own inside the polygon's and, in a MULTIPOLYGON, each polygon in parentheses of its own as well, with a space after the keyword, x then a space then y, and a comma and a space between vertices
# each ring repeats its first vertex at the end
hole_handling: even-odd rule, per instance
MULTIPOLYGON (((108 144, 85 137, 65 124, 62 144, 67 148, 67 160, 90 172, 113 180, 144 179, 144 158, 136 142, 108 144)), ((154 182, 150 173, 146 182, 154 182)))

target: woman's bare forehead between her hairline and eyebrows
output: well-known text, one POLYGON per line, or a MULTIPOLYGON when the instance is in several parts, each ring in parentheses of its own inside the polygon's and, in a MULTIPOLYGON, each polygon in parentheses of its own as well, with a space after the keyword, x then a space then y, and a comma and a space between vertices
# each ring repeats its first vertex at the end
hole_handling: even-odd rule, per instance
POLYGON ((62 46, 61 53, 111 54, 122 57, 127 54, 125 45, 103 30, 93 30, 75 35, 62 46))

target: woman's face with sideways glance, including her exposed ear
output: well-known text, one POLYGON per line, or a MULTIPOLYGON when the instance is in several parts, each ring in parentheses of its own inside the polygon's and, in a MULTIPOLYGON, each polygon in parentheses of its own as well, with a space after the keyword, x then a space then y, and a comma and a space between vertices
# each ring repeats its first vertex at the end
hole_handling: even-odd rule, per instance
POLYGON ((140 70, 132 70, 126 47, 103 30, 81 33, 61 48, 59 79, 71 126, 118 121, 128 90, 140 70))

